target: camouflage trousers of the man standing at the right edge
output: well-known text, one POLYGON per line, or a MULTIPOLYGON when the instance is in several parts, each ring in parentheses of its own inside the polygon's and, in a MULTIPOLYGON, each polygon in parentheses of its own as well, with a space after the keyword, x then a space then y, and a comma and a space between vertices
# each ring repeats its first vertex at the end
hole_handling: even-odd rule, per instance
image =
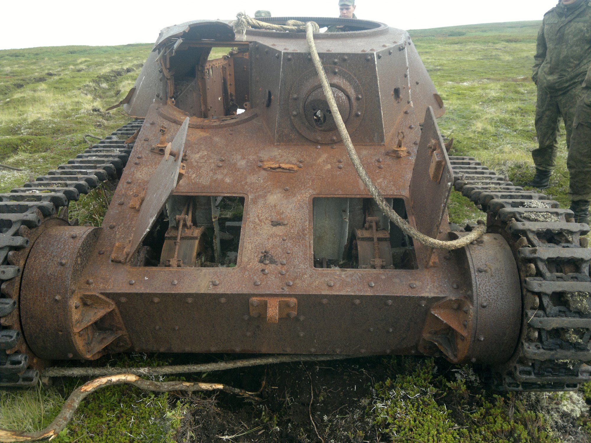
POLYGON ((560 117, 564 120, 572 201, 591 200, 591 102, 582 95, 581 86, 558 96, 538 88, 535 108, 539 147, 531 156, 539 170, 553 171, 556 167, 558 120, 560 117))

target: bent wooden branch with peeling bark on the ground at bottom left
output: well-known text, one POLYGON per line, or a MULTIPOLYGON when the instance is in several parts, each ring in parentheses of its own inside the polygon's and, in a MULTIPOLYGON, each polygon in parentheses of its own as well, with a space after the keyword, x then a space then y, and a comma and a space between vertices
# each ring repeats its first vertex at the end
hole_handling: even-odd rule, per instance
POLYGON ((87 396, 105 386, 124 385, 129 384, 139 389, 149 390, 152 392, 170 392, 175 390, 181 391, 212 391, 223 390, 236 395, 248 397, 252 400, 261 400, 253 393, 247 392, 236 387, 222 385, 221 383, 193 383, 193 382, 152 382, 139 378, 134 374, 118 374, 115 376, 100 377, 74 390, 64 403, 60 413, 46 428, 38 432, 22 432, 22 431, 8 431, 7 429, 0 429, 0 442, 17 442, 17 441, 37 441, 41 439, 52 439, 59 435, 59 433, 66 427, 72 419, 74 412, 80 406, 80 403, 87 396))

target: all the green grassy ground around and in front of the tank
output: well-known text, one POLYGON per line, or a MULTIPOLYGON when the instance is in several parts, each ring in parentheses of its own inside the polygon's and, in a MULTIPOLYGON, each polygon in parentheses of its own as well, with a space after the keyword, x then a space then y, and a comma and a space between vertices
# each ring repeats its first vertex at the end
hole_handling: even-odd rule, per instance
MULTIPOLYGON (((525 184, 534 174, 535 86, 531 64, 539 22, 411 31, 447 106, 441 132, 454 154, 473 155, 525 184)), ((83 136, 107 135, 128 118, 103 109, 132 86, 150 45, 0 51, 0 192, 86 148, 83 136)), ((567 206, 566 146, 548 194, 567 206)), ((102 191, 100 191, 102 192, 102 191)), ((107 191, 108 193, 108 191, 107 191)), ((107 194, 108 197, 108 194, 107 194)), ((103 196, 77 212, 98 223, 103 196)), ((459 193, 450 216, 483 218, 459 193)), ((177 362, 172 356, 104 358, 121 367, 177 362)), ((223 356, 204 356, 212 361, 223 356)), ((124 442, 586 442, 591 385, 574 393, 493 395, 469 367, 439 359, 368 358, 284 364, 200 374, 197 379, 258 390, 262 403, 231 395, 151 395, 111 387, 85 400, 54 441, 124 442)), ((40 429, 80 380, 0 393, 0 428, 40 429)))

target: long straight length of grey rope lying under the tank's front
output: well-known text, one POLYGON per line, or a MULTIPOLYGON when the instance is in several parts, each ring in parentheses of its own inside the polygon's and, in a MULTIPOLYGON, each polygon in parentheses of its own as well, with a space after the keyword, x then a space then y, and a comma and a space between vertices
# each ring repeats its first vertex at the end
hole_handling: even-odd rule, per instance
POLYGON ((342 355, 291 355, 268 356, 256 359, 218 361, 216 363, 202 364, 178 364, 158 367, 50 367, 44 370, 43 377, 100 377, 121 373, 135 374, 139 376, 159 376, 170 374, 191 374, 196 372, 213 372, 238 367, 261 366, 263 364, 293 363, 295 361, 329 361, 355 359, 358 356, 342 355))

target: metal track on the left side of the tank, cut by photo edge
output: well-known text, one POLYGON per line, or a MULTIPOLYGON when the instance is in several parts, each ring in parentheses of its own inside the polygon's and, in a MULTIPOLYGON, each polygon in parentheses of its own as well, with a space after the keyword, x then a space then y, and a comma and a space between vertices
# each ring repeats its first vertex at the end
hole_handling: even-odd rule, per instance
POLYGON ((70 201, 121 177, 134 144, 119 138, 134 135, 143 122, 133 120, 57 170, 0 194, 0 387, 34 386, 39 379, 38 370, 29 368, 35 357, 22 337, 18 311, 22 269, 38 236, 34 228, 51 217, 67 221, 70 201))

